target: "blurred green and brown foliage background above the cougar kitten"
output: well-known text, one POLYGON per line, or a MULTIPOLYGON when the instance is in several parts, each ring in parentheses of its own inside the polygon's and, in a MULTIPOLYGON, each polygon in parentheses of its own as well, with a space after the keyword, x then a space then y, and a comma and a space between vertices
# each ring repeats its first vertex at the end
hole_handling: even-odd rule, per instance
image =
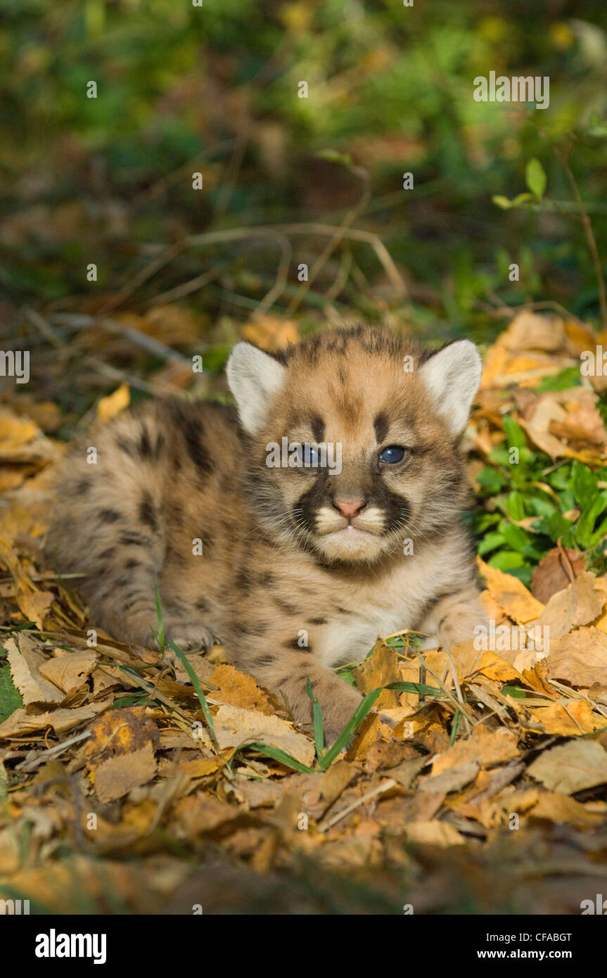
POLYGON ((600 0, 1 0, 0 12, 0 324, 45 348, 31 310, 51 324, 64 374, 34 376, 64 409, 115 379, 80 378, 78 357, 102 340, 109 362, 134 356, 99 335, 102 313, 202 351, 211 375, 247 329, 271 344, 364 318, 483 342, 504 306, 543 301, 598 323, 554 148, 571 151, 607 255, 600 0), (549 76, 549 108, 475 102, 473 78, 490 70, 549 76), (500 209, 494 196, 526 190, 531 158, 547 200, 500 209), (327 225, 342 222, 331 250, 327 225), (288 233, 249 234, 268 225, 288 233), (318 266, 307 288, 300 263, 318 266))

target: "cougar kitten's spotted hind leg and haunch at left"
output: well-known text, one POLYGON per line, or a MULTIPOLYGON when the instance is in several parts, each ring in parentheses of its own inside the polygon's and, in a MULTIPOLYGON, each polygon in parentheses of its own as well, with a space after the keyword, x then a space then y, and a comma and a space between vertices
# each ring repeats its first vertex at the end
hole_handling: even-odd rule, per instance
MULTIPOLYGON (((157 629, 156 581, 166 552, 164 483, 170 478, 170 432, 154 417, 124 416, 88 436, 65 464, 47 560, 78 582, 89 600, 91 620, 122 642, 153 643, 157 629), (95 455, 91 456, 91 448, 95 455), (93 457, 95 462, 89 463, 93 457)), ((167 641, 184 648, 212 644, 202 625, 192 626, 179 609, 163 605, 167 641)))

